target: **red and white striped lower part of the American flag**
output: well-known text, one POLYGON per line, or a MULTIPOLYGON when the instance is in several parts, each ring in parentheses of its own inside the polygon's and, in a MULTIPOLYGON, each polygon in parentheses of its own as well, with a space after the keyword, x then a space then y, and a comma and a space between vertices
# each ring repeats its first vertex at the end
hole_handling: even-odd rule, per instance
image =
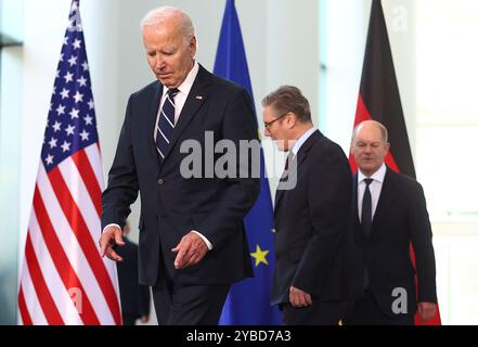
POLYGON ((18 291, 24 324, 120 324, 113 261, 101 258, 98 144, 47 174, 40 163, 18 291))

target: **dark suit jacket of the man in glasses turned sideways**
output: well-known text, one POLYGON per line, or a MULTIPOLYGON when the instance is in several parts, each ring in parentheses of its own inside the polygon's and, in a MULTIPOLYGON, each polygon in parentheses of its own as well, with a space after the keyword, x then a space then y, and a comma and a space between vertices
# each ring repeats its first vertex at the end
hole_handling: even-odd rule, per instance
POLYGON ((272 304, 288 303, 290 285, 315 300, 345 301, 352 200, 349 163, 320 131, 302 144, 295 160, 296 188, 277 190, 275 197, 272 304))

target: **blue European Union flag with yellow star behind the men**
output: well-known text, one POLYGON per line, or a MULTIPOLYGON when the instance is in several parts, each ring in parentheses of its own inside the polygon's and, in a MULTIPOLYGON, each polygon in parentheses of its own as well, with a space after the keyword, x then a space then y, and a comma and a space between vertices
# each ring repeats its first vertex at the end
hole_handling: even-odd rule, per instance
MULTIPOLYGON (((227 0, 216 55, 215 74, 246 88, 253 98, 246 53, 234 0, 227 0)), ((254 98, 253 98, 254 100, 254 98)), ((260 194, 245 218, 255 278, 232 285, 220 324, 281 324, 277 307, 270 305, 273 258, 273 209, 266 178, 263 153, 260 154, 260 194)))

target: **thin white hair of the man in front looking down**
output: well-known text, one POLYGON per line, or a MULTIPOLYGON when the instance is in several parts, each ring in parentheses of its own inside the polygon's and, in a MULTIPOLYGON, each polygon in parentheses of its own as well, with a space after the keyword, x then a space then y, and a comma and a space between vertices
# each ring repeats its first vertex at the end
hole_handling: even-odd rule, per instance
POLYGON ((190 15, 182 10, 173 7, 162 7, 151 10, 141 20, 141 29, 146 26, 156 26, 163 24, 165 21, 171 17, 178 17, 181 24, 181 34, 185 39, 190 39, 195 36, 194 24, 190 15))

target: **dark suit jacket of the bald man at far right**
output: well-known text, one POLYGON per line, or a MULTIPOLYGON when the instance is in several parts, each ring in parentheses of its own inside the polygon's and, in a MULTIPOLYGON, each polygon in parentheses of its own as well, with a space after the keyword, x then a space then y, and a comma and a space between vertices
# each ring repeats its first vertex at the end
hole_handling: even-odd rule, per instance
POLYGON ((435 254, 431 227, 422 185, 414 179, 387 167, 370 236, 361 227, 358 204, 358 176, 353 179, 353 240, 357 285, 356 296, 363 294, 363 273, 366 266, 372 291, 382 311, 389 317, 393 288, 404 288, 408 312, 416 311, 415 271, 410 255, 410 242, 415 250, 418 274, 418 301, 437 301, 435 282, 435 254))

